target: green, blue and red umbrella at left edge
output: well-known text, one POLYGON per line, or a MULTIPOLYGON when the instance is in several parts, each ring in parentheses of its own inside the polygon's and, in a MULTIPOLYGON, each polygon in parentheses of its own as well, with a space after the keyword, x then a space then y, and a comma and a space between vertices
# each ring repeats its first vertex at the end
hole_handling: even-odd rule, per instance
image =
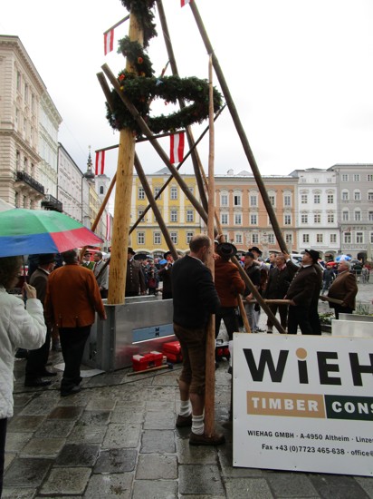
POLYGON ((14 209, 0 213, 0 257, 62 253, 102 240, 58 211, 14 209))

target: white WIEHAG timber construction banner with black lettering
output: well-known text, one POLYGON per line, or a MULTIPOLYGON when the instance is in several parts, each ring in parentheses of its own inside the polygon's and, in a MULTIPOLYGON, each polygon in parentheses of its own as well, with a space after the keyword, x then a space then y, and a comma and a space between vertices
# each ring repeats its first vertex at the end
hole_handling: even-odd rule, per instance
POLYGON ((234 466, 373 475, 373 343, 234 333, 234 466))

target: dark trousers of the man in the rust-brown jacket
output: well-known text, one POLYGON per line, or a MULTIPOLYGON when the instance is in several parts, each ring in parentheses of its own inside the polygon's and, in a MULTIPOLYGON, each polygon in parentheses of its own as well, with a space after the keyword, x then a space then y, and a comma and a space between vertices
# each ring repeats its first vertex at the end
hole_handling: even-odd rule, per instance
POLYGON ((62 357, 65 363, 61 391, 68 392, 81 383, 81 358, 91 333, 91 326, 84 328, 60 328, 62 357))

